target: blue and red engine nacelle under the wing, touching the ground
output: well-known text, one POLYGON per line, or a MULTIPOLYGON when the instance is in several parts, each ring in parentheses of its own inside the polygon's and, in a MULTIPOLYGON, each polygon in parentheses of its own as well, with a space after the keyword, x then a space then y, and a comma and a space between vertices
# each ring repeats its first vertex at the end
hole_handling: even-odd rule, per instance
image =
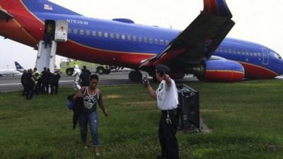
POLYGON ((207 60, 205 62, 205 81, 237 82, 245 75, 243 66, 236 61, 226 59, 207 60))

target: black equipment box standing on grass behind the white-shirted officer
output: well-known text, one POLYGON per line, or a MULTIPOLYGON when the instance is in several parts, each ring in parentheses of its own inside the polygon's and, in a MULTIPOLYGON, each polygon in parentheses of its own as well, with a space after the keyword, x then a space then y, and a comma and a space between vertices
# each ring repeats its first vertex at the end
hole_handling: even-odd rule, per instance
POLYGON ((199 92, 186 86, 177 86, 179 98, 179 129, 184 131, 200 130, 199 92))

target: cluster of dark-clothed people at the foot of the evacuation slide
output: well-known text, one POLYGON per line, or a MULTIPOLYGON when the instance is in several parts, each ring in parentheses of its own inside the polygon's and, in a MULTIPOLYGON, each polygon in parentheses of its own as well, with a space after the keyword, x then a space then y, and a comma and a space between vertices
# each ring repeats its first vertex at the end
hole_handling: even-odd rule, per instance
POLYGON ((57 95, 60 78, 58 71, 51 73, 50 69, 46 67, 41 73, 37 68, 25 70, 21 76, 23 96, 30 100, 33 98, 34 93, 36 95, 49 93, 57 95))

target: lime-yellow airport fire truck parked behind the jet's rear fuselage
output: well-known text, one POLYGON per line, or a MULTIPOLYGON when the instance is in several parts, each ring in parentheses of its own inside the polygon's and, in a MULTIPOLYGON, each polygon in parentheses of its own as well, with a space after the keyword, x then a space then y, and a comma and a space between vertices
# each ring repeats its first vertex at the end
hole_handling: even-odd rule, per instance
POLYGON ((113 66, 94 64, 91 62, 78 61, 73 59, 68 59, 67 61, 60 62, 60 72, 66 73, 68 76, 71 76, 74 72, 74 65, 79 65, 80 69, 83 69, 83 66, 86 66, 86 69, 91 71, 92 73, 99 74, 109 74, 110 69, 113 69, 113 66))

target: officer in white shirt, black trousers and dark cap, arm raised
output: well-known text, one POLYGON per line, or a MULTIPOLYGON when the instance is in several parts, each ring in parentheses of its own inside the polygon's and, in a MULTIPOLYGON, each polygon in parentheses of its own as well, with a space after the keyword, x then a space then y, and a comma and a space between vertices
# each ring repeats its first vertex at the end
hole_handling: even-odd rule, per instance
POLYGON ((161 119, 159 122, 158 136, 161 144, 160 159, 178 159, 178 141, 176 132, 178 126, 178 90, 175 81, 168 76, 171 70, 162 64, 156 65, 156 79, 160 82, 158 89, 154 90, 147 80, 149 94, 157 100, 161 119))

